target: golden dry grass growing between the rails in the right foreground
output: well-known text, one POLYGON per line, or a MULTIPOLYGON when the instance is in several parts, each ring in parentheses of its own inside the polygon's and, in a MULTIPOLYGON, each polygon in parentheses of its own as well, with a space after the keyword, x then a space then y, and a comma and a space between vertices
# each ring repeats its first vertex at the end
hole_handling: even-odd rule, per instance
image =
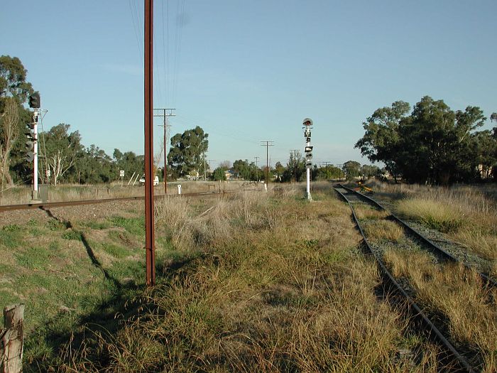
POLYGON ((422 252, 388 251, 384 258, 395 277, 409 279, 416 298, 429 313, 447 318, 452 340, 479 352, 482 372, 497 371, 497 310, 489 293, 481 286, 476 271, 460 264, 439 266, 422 252))

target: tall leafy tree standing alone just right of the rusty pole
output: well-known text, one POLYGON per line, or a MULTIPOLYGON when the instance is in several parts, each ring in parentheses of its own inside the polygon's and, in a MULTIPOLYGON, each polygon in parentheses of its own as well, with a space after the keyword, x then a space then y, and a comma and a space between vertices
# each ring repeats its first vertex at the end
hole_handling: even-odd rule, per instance
POLYGON ((198 175, 203 168, 202 155, 207 152, 209 141, 200 126, 188 129, 183 134, 175 134, 171 138, 171 148, 168 153, 168 165, 178 175, 198 175))

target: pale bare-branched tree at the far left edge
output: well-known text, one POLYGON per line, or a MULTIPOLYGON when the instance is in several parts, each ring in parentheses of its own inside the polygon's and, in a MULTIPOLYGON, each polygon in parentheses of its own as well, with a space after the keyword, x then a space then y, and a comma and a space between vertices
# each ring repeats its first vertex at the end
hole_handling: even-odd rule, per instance
POLYGON ((6 99, 4 112, 0 116, 0 195, 4 190, 4 181, 12 185, 10 156, 18 133, 18 121, 18 104, 13 98, 6 99))

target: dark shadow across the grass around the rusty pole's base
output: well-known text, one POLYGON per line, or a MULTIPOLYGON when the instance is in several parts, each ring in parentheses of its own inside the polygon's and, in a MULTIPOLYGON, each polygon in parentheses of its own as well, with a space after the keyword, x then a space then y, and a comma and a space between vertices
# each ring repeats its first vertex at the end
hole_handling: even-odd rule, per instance
MULTIPOLYGON (((87 245, 86 243, 85 247, 87 245)), ((89 249, 91 250, 91 247, 89 249)), ((164 259, 164 263, 156 265, 156 283, 169 283, 178 275, 178 271, 201 255, 190 254, 174 261, 164 259)), ((71 315, 60 313, 51 319, 45 328, 40 328, 38 332, 26 338, 25 350, 28 352, 26 354, 28 358, 24 361, 23 372, 56 372, 58 365, 62 363, 60 351, 67 348, 68 344, 70 350, 80 350, 84 346, 85 338, 92 338, 98 333, 116 335, 121 328, 124 328, 126 320, 143 317, 149 306, 145 297, 147 294, 145 265, 136 262, 133 273, 136 274, 136 279, 140 275, 143 276, 143 283, 134 281, 120 283, 107 273, 104 281, 108 283, 109 296, 105 301, 94 304, 92 311, 77 317, 71 318, 71 315)), ((90 355, 85 359, 96 366, 104 367, 107 362, 102 360, 102 355, 105 356, 105 354, 90 355)))

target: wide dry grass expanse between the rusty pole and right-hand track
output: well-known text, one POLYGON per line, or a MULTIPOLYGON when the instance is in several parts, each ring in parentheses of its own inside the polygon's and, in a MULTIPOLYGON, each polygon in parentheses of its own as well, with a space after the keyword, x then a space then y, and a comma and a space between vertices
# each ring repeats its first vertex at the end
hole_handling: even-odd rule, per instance
POLYGON ((315 192, 312 203, 233 195, 200 214, 165 200, 159 231, 201 254, 166 267, 116 334, 67 344, 58 370, 437 372, 437 351, 405 340, 405 320, 376 298, 378 271, 356 252, 349 208, 315 192))

